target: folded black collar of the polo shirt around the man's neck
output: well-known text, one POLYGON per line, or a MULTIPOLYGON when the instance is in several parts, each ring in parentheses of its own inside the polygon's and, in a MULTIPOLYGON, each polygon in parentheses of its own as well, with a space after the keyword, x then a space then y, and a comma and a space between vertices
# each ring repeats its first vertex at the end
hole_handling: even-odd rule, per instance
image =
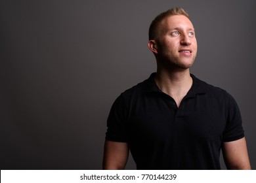
MULTIPOLYGON (((156 73, 152 73, 150 77, 146 80, 146 92, 161 92, 160 88, 156 85, 155 81, 156 73)), ((193 84, 188 95, 204 94, 206 92, 205 82, 196 78, 196 76, 190 74, 193 79, 193 84)))

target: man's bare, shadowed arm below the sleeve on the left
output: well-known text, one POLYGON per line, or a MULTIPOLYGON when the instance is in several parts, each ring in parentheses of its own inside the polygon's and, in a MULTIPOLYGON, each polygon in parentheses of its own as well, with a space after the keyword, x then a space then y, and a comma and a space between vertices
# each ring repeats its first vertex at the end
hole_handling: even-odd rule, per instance
POLYGON ((126 142, 105 141, 103 169, 124 169, 129 156, 126 142))

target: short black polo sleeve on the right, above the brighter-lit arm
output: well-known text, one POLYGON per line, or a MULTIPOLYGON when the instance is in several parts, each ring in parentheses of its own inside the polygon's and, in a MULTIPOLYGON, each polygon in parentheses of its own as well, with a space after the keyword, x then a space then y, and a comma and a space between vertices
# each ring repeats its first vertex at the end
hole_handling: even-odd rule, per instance
POLYGON ((226 93, 226 127, 223 133, 223 141, 236 141, 244 137, 242 117, 234 98, 226 93))

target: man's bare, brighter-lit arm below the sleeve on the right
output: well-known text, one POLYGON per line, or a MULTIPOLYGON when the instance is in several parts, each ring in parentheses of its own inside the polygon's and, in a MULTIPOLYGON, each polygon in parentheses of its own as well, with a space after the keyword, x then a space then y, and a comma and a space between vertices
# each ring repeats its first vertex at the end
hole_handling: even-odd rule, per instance
POLYGON ((251 169, 245 137, 223 142, 222 150, 227 169, 251 169))

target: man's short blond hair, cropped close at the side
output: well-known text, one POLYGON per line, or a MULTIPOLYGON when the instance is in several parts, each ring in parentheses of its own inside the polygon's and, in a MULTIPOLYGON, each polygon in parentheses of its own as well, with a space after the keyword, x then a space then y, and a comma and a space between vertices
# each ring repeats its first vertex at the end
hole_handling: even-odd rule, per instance
POLYGON ((180 7, 171 8, 165 12, 161 12, 161 14, 156 16, 156 18, 150 24, 150 28, 148 30, 148 39, 149 40, 156 39, 156 36, 158 34, 158 25, 160 24, 160 22, 163 19, 173 15, 184 15, 189 19, 188 13, 183 8, 180 8, 180 7))

